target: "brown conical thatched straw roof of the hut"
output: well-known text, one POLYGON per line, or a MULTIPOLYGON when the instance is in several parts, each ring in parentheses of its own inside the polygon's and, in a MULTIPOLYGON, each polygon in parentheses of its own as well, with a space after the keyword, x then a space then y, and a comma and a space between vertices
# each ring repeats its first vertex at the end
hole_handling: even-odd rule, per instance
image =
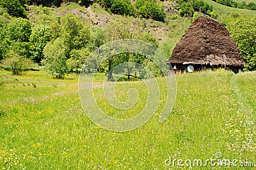
POLYGON ((191 24, 173 49, 168 62, 196 62, 239 69, 245 66, 243 56, 225 26, 208 17, 199 17, 191 24))

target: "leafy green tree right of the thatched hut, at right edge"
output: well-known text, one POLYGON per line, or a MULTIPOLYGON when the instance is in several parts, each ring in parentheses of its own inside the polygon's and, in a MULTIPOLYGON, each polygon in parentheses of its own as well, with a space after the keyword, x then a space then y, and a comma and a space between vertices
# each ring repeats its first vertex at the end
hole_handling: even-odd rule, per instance
POLYGON ((243 54, 247 70, 256 70, 256 17, 233 15, 227 29, 243 54))

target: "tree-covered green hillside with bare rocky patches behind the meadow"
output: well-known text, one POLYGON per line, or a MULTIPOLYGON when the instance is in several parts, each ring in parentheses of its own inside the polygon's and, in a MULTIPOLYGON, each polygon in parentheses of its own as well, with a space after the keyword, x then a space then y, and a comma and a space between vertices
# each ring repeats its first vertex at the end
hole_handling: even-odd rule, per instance
MULTIPOLYGON (((33 61, 44 65, 45 70, 54 78, 63 78, 69 71, 78 73, 84 60, 93 50, 104 43, 118 39, 132 38, 147 41, 158 46, 168 59, 175 44, 191 22, 199 16, 200 9, 201 15, 209 15, 225 25, 236 20, 238 16, 227 15, 228 13, 236 12, 245 20, 250 19, 248 15, 255 16, 256 14, 256 11, 230 8, 209 0, 179 1, 178 3, 174 1, 154 3, 151 0, 140 0, 129 4, 129 8, 124 2, 118 0, 109 1, 112 3, 106 0, 97 1, 97 3, 52 1, 52 4, 59 7, 51 6, 51 8, 47 7, 49 4, 41 1, 25 3, 20 1, 21 3, 14 5, 16 1, 12 0, 13 4, 1 1, 1 65, 12 69, 13 74, 21 74, 22 71, 34 66, 29 64, 33 61), (40 6, 28 6, 29 4, 40 4, 40 6), (118 8, 116 8, 117 5, 118 8), (150 6, 152 8, 149 8, 150 6), (200 8, 201 6, 204 8, 200 8), (159 10, 156 11, 156 9, 159 10), (58 46, 62 48, 59 49, 58 46), (61 55, 54 56, 54 51, 60 52, 61 55), (79 60, 75 57, 77 54, 80 56, 79 60), (55 57, 53 59, 55 62, 51 62, 52 57, 55 57), (19 62, 15 62, 16 60, 19 62)), ((243 27, 244 22, 237 23, 243 27)), ((255 52, 253 49, 255 48, 244 47, 244 45, 253 45, 254 42, 250 39, 255 36, 253 32, 255 22, 249 23, 251 28, 248 27, 248 31, 252 34, 246 38, 248 41, 242 43, 241 36, 237 36, 235 41, 239 48, 246 49, 242 51, 244 59, 250 66, 246 69, 254 70, 255 52)), ((232 30, 230 25, 228 28, 232 30)), ((237 34, 232 31, 230 33, 234 37, 237 34)), ((145 63, 140 60, 140 64, 145 63)), ((109 69, 111 67, 109 66, 109 69)), ((93 69, 93 64, 88 63, 88 68, 93 69)), ((108 69, 103 70, 108 71, 108 69)))

